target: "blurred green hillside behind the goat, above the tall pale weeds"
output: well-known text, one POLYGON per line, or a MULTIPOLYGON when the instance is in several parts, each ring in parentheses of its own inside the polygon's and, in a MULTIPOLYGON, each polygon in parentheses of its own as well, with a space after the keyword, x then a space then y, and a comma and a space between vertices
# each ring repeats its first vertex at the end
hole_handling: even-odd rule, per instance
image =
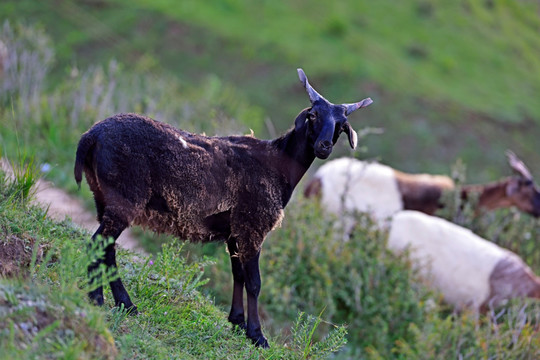
MULTIPOLYGON (((471 181, 508 174, 507 148, 540 174, 539 11, 532 0, 0 4, 3 19, 38 24, 52 39, 48 88, 74 67, 111 59, 126 73, 174 78, 186 88, 214 76, 257 108, 235 130, 266 138, 309 105, 295 71, 302 67, 331 101, 374 99, 352 123, 385 132, 366 137, 367 152, 358 156, 447 174, 462 158, 471 181)), ((349 154, 340 150, 334 156, 349 154)))

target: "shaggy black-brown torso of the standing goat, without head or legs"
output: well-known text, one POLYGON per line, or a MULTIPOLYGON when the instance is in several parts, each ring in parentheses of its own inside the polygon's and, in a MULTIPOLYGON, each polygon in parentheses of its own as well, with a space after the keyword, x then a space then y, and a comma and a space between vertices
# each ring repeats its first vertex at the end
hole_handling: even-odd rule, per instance
POLYGON ((245 262, 260 251, 291 196, 291 181, 281 168, 287 159, 279 151, 286 142, 287 136, 261 141, 195 135, 119 114, 82 136, 76 180, 84 168, 100 223, 104 206, 113 206, 130 223, 181 239, 249 239, 238 244, 245 262))

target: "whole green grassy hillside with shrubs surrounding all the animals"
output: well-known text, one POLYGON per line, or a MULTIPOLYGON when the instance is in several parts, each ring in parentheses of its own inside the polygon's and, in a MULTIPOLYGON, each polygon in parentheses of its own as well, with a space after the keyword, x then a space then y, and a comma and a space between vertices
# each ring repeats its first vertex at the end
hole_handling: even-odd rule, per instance
MULTIPOLYGON (((468 178, 485 181, 508 172, 503 154, 511 147, 538 174, 535 6, 2 1, 0 14, 20 21, 0 30, 16 54, 0 75, 0 156, 26 154, 38 166, 27 180, 39 172, 75 191, 80 134, 119 111, 210 134, 281 132, 308 105, 295 72, 302 66, 330 100, 375 99, 351 117, 357 129, 386 128, 361 139, 367 149, 337 146, 334 157, 381 157, 403 170, 448 173, 459 155, 468 178)), ((104 356, 123 358, 317 358, 341 343, 344 331, 333 324, 348 325, 341 358, 539 356, 537 303, 515 301, 480 317, 454 314, 422 286, 406 257, 386 250, 384 231, 360 218, 355 241, 329 241, 343 234, 298 197, 261 260, 271 350, 255 350, 231 332, 209 300, 230 300, 230 265, 219 244, 154 244, 153 257, 138 261, 122 253, 122 277, 147 312, 125 316, 110 302, 95 309, 84 295, 89 260, 81 249, 89 234, 14 201, 20 189, 10 186, 0 187, 0 241, 26 254, 9 276, 21 266, 29 274, 0 280, 0 331, 14 334, 0 337, 0 350, 13 358, 32 358, 40 346, 58 357, 94 358, 108 349, 104 356), (332 329, 328 341, 312 342, 332 329)), ((91 203, 87 186, 80 195, 91 203)), ((461 210, 457 204, 446 216, 459 213, 459 222, 540 272, 538 221, 511 211, 472 221, 461 210)))

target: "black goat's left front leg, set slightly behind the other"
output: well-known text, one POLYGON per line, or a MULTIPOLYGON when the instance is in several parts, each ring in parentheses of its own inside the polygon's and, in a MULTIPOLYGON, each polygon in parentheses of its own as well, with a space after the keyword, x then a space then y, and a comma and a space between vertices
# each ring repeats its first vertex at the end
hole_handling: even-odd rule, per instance
POLYGON ((244 267, 238 258, 238 246, 236 239, 231 238, 227 241, 227 249, 231 258, 231 268, 233 273, 233 298, 229 321, 241 329, 246 329, 244 320, 244 267))

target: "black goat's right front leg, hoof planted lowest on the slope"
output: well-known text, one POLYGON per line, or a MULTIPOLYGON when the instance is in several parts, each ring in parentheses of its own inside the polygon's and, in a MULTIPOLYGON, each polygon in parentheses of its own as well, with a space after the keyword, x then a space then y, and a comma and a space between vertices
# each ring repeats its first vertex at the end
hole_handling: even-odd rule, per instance
POLYGON ((248 321, 246 335, 256 346, 267 348, 268 341, 264 337, 259 320, 258 298, 261 291, 261 274, 259 271, 259 255, 244 264, 244 278, 246 283, 248 321))

